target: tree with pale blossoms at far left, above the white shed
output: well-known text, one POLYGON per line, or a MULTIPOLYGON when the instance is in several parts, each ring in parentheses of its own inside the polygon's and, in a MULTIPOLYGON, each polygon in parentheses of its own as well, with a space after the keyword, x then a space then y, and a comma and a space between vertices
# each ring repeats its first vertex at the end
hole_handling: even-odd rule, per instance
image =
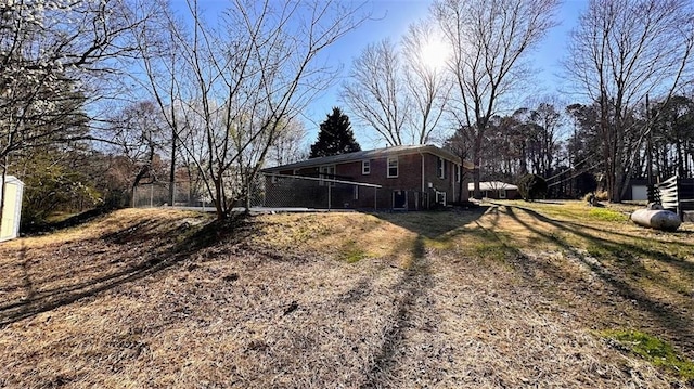
POLYGON ((146 10, 138 0, 0 4, 0 186, 13 153, 89 138, 85 106, 102 98, 90 82, 132 53, 128 33, 146 10))

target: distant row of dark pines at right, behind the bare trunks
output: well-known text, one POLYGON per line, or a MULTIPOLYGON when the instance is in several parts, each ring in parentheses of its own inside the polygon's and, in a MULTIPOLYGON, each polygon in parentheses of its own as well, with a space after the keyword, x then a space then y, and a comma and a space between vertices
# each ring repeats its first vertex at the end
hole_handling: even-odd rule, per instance
MULTIPOLYGON (((650 103, 648 112, 644 102, 628 116, 630 126, 640 129, 624 145, 633 155, 630 178, 646 180, 650 158, 653 182, 674 174, 694 177, 694 95, 650 103)), ((484 181, 515 183, 526 173, 539 174, 548 181, 551 198, 578 198, 599 187, 607 191, 600 105, 557 105, 540 103, 535 109, 491 118, 481 148, 484 181)), ((446 140, 446 147, 464 147, 462 132, 446 140)))

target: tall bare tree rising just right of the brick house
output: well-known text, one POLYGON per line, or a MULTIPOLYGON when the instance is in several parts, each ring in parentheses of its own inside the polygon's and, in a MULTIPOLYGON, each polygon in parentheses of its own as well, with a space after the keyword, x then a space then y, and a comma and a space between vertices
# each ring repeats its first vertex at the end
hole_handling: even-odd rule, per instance
MULTIPOLYGON (((557 0, 438 0, 432 10, 453 48, 452 113, 472 131, 476 166, 499 101, 528 77, 522 60, 554 26, 557 0)), ((473 172, 479 197, 479 170, 473 172)))

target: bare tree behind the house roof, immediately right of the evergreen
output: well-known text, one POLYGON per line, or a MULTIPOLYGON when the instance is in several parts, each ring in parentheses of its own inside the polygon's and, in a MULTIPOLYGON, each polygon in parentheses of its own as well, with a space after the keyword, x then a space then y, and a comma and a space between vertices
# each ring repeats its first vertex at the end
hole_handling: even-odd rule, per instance
POLYGON ((352 63, 343 101, 362 125, 372 127, 390 146, 408 143, 410 99, 397 46, 389 39, 371 43, 352 63))

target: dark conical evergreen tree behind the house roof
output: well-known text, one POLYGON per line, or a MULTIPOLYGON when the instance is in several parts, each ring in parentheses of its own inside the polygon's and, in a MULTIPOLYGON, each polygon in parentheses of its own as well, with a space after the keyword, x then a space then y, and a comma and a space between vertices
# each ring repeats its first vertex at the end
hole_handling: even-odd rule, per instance
POLYGON ((349 117, 338 107, 333 107, 333 113, 321 124, 318 141, 311 144, 310 158, 359 151, 361 146, 355 140, 349 117))

